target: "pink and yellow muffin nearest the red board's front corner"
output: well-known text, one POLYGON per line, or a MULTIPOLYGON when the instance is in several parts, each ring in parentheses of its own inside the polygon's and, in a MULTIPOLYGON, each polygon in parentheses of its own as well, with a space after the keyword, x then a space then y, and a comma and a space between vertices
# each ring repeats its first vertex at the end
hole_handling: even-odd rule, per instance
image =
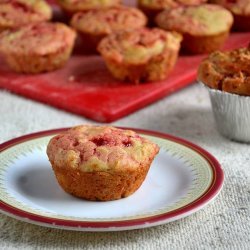
POLYGON ((154 28, 121 31, 105 37, 98 45, 111 74, 134 83, 165 79, 173 69, 181 36, 154 28))

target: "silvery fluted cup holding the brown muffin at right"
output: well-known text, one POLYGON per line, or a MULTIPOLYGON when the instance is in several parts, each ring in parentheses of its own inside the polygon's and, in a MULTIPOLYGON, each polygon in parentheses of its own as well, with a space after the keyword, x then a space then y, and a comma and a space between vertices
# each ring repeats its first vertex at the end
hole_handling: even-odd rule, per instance
POLYGON ((249 143, 250 96, 231 94, 203 85, 209 91, 219 132, 231 140, 249 143))

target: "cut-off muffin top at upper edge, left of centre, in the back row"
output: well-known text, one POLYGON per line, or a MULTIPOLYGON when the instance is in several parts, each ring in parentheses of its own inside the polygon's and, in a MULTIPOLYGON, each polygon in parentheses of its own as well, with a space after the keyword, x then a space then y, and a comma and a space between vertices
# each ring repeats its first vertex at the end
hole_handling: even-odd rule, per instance
POLYGON ((68 12, 75 13, 117 6, 121 0, 57 0, 57 2, 68 12))

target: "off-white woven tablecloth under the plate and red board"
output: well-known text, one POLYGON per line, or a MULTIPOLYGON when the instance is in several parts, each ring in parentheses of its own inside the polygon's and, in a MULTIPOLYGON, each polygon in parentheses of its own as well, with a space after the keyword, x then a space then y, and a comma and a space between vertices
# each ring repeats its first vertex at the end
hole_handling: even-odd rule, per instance
MULTIPOLYGON (((83 123, 92 121, 0 90, 0 143, 83 123)), ((218 134, 202 86, 193 84, 112 125, 170 133, 202 146, 222 164, 222 192, 185 219, 125 232, 63 231, 0 215, 0 249, 250 249, 250 144, 218 134)))

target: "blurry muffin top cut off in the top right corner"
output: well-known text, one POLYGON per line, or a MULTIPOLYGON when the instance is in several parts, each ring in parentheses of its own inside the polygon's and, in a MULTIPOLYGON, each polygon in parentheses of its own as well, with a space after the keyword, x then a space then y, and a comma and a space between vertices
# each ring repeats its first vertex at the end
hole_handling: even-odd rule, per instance
POLYGON ((212 0, 213 3, 222 5, 236 15, 250 15, 249 0, 212 0))

